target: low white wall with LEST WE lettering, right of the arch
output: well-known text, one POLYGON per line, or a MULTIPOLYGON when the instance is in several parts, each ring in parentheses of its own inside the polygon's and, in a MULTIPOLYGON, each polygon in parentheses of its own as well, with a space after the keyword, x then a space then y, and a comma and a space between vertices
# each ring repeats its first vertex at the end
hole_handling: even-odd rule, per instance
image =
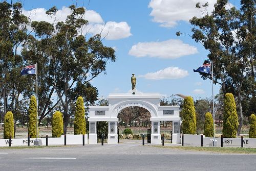
MULTIPOLYGON (((212 137, 201 137, 202 135, 183 135, 183 144, 186 146, 201 146, 203 140, 203 146, 209 146, 210 141, 214 138, 212 137)), ((215 138, 217 140, 217 146, 221 146, 221 138, 215 138)), ((241 138, 223 138, 223 147, 234 146, 240 147, 243 143, 244 147, 256 147, 256 138, 243 138, 243 142, 241 138)))

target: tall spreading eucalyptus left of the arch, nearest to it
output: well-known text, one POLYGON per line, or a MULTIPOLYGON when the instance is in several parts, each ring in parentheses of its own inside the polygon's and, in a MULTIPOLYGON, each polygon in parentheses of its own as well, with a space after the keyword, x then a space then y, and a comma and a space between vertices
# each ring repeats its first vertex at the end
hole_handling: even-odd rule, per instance
MULTIPOLYGON (((88 25, 88 21, 84 19, 85 9, 77 8, 75 5, 71 5, 69 9, 71 14, 67 16, 66 21, 56 22, 56 19, 53 19, 53 23, 33 21, 31 27, 35 31, 36 38, 39 38, 36 41, 40 44, 38 46, 40 50, 33 51, 32 47, 27 51, 28 54, 41 54, 44 64, 47 64, 45 81, 49 81, 48 86, 51 91, 56 92, 63 108, 65 133, 70 117, 68 111, 71 101, 84 95, 87 103, 93 103, 97 99, 98 92, 90 81, 101 72, 105 73, 106 64, 116 60, 115 51, 103 45, 100 35, 88 39, 83 35, 83 30, 88 25)), ((56 18, 56 12, 57 8, 53 7, 46 14, 56 18)), ((40 75, 39 71, 38 74, 40 75)))

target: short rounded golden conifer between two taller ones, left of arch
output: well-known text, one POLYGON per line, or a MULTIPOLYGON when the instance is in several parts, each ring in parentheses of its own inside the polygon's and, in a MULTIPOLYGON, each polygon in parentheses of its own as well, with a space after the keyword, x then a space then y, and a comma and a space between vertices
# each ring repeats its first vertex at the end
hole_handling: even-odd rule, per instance
POLYGON ((52 116, 52 137, 60 137, 63 134, 62 113, 56 111, 52 116))

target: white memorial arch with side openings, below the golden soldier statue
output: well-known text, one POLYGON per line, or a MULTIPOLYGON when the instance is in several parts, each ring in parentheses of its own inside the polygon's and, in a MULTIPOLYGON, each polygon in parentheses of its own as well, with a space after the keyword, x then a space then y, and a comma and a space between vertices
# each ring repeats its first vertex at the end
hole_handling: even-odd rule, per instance
POLYGON ((160 106, 159 93, 115 93, 110 94, 109 106, 89 106, 89 143, 97 143, 97 121, 108 121, 108 143, 118 143, 118 113, 131 106, 147 109, 151 113, 151 143, 160 144, 160 121, 173 121, 173 143, 180 143, 180 106, 160 106))

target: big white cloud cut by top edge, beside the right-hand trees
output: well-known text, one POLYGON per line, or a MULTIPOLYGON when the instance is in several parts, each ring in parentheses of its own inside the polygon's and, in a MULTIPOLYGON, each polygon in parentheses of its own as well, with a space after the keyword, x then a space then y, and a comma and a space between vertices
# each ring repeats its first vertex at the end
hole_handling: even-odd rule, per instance
MULTIPOLYGON (((208 2, 207 11, 211 13, 214 10, 214 4, 217 0, 151 0, 148 8, 152 8, 150 13, 153 21, 161 23, 162 27, 174 27, 178 21, 189 21, 190 18, 201 17, 201 11, 196 8, 196 4, 201 5, 208 2)), ((227 8, 232 7, 228 4, 227 8)))

